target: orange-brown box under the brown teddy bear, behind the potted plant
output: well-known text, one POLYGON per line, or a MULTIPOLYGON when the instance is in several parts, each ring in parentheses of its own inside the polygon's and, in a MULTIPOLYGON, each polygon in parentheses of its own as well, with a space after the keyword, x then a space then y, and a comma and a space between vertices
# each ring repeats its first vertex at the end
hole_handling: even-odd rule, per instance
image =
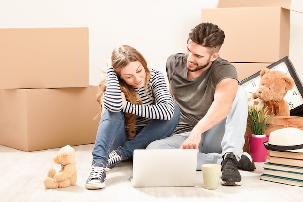
MULTIPOLYGON (((295 127, 303 130, 303 117, 298 116, 273 116, 271 121, 269 122, 265 134, 270 135, 271 132, 286 128, 286 127, 295 127)), ((247 136, 250 135, 251 129, 247 126, 246 132, 245 132, 245 144, 243 147, 243 152, 249 153, 249 145, 248 145, 248 138, 247 136)), ((269 158, 269 151, 267 151, 267 158, 269 158)))

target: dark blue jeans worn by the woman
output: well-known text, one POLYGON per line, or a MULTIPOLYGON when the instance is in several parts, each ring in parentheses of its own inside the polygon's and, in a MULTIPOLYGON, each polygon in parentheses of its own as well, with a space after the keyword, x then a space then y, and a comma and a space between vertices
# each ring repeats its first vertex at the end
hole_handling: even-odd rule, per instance
POLYGON ((102 163, 106 166, 108 155, 113 150, 119 150, 123 160, 131 158, 135 149, 145 149, 152 141, 171 136, 179 120, 180 111, 175 106, 171 120, 152 119, 132 140, 128 140, 124 113, 105 110, 99 123, 95 147, 92 151, 92 164, 102 163))

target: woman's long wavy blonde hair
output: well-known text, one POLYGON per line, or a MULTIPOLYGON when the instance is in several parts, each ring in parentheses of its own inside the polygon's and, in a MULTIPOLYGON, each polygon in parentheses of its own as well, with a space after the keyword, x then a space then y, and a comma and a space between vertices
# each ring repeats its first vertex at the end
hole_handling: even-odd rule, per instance
MULTIPOLYGON (((116 47, 111 54, 112 66, 117 73, 119 79, 120 90, 125 94, 126 100, 132 104, 142 104, 142 100, 139 95, 134 91, 133 86, 128 85, 123 79, 120 78, 121 70, 126 67, 130 62, 139 61, 146 72, 145 77, 145 93, 147 94, 147 86, 151 77, 151 72, 147 67, 146 60, 135 48, 128 45, 121 45, 116 47)), ((99 83, 100 91, 97 94, 97 101, 100 106, 100 112, 102 113, 102 99, 103 93, 106 91, 106 78, 103 78, 99 83)), ((136 135, 135 124, 136 115, 130 113, 124 113, 125 127, 127 129, 128 139, 133 139, 136 135)))

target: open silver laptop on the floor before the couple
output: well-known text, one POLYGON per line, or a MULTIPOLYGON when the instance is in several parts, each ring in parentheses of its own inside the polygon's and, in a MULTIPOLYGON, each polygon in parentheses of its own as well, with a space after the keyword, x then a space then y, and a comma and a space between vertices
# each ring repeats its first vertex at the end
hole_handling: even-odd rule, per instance
POLYGON ((134 150, 133 187, 195 186, 197 150, 134 150))

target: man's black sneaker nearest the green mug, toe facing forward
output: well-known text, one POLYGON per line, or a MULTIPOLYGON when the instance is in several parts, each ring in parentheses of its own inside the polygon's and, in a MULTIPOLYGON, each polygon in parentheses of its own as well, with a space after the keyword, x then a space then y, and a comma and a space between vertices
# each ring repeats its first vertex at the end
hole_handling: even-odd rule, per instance
POLYGON ((222 161, 220 183, 223 186, 242 185, 241 175, 238 171, 240 163, 237 161, 233 152, 227 154, 222 161))

